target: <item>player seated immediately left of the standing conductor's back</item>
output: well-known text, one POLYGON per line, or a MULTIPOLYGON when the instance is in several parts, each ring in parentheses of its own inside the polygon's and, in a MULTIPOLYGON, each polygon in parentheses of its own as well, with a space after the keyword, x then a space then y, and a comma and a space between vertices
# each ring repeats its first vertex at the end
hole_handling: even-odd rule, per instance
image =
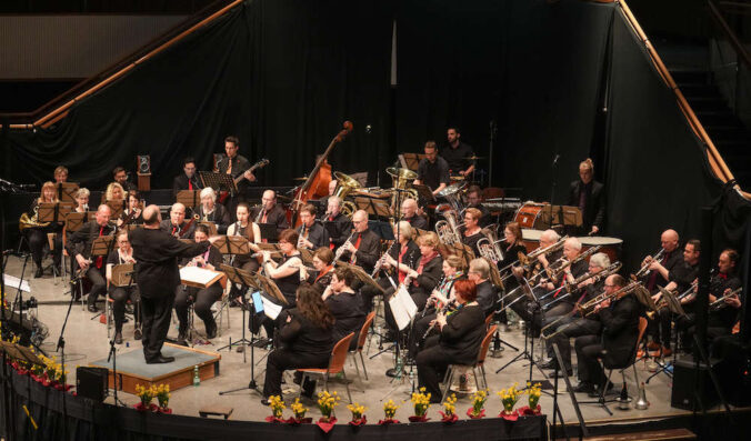
POLYGON ((114 342, 122 344, 122 323, 126 321, 126 303, 130 300, 133 305, 136 329, 133 340, 141 340, 141 297, 136 281, 130 287, 116 287, 112 284, 112 269, 119 264, 136 263, 133 249, 128 240, 128 231, 118 233, 118 249, 107 257, 107 281, 109 283, 110 299, 112 299, 112 315, 114 318, 114 342))

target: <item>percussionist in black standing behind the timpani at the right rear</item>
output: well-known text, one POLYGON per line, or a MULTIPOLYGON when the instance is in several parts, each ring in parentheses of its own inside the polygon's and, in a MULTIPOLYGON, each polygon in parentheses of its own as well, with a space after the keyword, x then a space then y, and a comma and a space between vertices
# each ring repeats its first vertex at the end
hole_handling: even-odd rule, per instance
POLYGON ((604 187, 594 180, 594 164, 589 158, 579 164, 579 179, 571 182, 569 206, 581 210, 583 234, 600 232, 605 218, 604 187))

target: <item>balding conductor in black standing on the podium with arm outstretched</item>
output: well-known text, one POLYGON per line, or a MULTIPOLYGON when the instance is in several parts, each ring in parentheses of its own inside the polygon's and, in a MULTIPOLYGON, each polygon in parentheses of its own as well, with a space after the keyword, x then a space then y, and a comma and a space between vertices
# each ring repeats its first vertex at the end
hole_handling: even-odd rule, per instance
POLYGON ((136 282, 141 292, 143 315, 143 355, 147 364, 170 363, 174 357, 161 353, 174 303, 174 290, 180 284, 178 258, 204 253, 210 241, 184 243, 161 231, 159 207, 143 210, 143 228, 130 232, 136 260, 136 282))

